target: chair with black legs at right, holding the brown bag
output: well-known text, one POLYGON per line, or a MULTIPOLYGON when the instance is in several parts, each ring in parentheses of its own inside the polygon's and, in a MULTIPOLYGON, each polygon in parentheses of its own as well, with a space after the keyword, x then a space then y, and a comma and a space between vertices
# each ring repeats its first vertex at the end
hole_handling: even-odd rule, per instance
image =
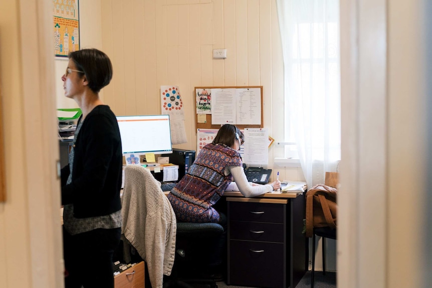
MULTIPOLYGON (((339 173, 337 172, 326 172, 325 174, 325 185, 337 188, 339 184, 339 173)), ((312 235, 312 271, 311 271, 311 288, 314 287, 314 273, 315 273, 315 237, 320 236, 322 238, 322 261, 323 261, 323 275, 325 275, 325 239, 335 239, 336 240, 336 229, 330 227, 319 227, 313 228, 312 235)))

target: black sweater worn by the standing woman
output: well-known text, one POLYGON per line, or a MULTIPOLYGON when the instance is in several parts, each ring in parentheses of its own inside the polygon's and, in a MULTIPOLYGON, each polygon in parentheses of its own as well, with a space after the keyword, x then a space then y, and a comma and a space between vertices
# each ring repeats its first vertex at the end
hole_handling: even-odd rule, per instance
POLYGON ((121 139, 117 119, 108 106, 99 105, 87 115, 73 149, 70 184, 66 185, 69 165, 61 171, 62 204, 72 203, 77 218, 120 210, 121 139))

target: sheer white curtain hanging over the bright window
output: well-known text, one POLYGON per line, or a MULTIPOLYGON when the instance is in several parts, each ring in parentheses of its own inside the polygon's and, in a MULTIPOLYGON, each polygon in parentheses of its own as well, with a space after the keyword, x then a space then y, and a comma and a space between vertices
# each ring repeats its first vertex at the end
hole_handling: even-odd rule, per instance
POLYGON ((325 172, 336 171, 340 160, 339 1, 276 2, 289 111, 285 141, 296 143, 312 187, 324 183, 325 172))

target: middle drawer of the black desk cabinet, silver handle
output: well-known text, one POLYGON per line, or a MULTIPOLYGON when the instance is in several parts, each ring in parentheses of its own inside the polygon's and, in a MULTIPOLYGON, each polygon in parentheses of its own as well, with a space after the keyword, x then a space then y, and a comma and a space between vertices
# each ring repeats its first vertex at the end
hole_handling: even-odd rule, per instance
POLYGON ((230 238, 236 240, 285 242, 282 223, 230 221, 230 238))

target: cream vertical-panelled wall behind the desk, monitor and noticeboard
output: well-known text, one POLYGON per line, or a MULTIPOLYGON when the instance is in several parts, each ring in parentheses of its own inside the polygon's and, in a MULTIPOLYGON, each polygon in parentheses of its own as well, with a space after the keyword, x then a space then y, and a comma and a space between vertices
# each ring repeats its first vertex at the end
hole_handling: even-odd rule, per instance
MULTIPOLYGON (((263 85, 264 126, 283 140, 274 0, 106 0, 101 11, 103 50, 114 66, 104 101, 116 114, 160 114, 160 86, 178 85, 187 143, 176 146, 196 149, 195 86, 263 85), (227 49, 228 58, 212 59, 213 49, 227 49)), ((282 148, 271 147, 268 167, 283 156, 282 148)), ((303 179, 300 168, 280 172, 284 179, 303 179)))

